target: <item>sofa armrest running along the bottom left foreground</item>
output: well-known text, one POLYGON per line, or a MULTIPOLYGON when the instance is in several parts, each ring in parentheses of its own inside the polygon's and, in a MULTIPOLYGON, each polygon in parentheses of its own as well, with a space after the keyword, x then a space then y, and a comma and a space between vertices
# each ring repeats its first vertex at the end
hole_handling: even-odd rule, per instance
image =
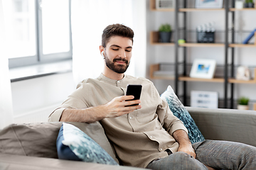
POLYGON ((0 153, 0 169, 4 170, 143 170, 130 166, 96 164, 90 162, 70 161, 62 159, 28 157, 15 154, 0 153))

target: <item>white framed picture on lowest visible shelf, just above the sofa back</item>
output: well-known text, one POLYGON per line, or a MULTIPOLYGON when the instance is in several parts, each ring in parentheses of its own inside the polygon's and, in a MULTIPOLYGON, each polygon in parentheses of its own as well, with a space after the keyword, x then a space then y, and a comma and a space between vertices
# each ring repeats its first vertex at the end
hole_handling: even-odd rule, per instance
POLYGON ((216 91, 191 91, 191 107, 218 108, 216 91))

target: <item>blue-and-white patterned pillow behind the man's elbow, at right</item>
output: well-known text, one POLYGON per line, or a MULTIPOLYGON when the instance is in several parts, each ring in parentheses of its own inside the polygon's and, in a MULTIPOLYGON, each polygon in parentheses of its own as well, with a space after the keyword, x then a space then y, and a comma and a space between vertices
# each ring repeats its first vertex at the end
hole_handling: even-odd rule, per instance
POLYGON ((181 101, 178 100, 178 97, 174 93, 174 90, 171 88, 171 86, 168 86, 166 91, 161 94, 161 98, 167 101, 172 113, 174 113, 174 115, 179 118, 188 129, 188 137, 189 140, 191 140, 191 143, 193 144, 195 142, 203 142, 205 138, 198 129, 191 115, 188 113, 181 101))

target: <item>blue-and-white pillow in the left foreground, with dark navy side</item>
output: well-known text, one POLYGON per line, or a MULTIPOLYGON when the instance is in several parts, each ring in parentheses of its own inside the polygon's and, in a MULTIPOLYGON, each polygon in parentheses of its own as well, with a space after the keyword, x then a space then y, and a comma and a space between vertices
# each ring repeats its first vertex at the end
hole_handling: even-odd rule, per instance
POLYGON ((59 159, 118 165, 92 138, 68 123, 61 126, 56 145, 59 159))

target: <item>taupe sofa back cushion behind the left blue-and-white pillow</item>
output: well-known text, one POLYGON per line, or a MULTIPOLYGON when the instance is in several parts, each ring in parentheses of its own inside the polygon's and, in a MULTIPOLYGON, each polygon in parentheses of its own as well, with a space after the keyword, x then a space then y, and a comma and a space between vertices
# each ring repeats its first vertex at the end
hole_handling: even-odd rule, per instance
MULTIPOLYGON (((118 162, 99 122, 70 124, 85 132, 118 162)), ((9 125, 0 131, 0 153, 58 158, 56 140, 61 125, 59 122, 9 125)))

